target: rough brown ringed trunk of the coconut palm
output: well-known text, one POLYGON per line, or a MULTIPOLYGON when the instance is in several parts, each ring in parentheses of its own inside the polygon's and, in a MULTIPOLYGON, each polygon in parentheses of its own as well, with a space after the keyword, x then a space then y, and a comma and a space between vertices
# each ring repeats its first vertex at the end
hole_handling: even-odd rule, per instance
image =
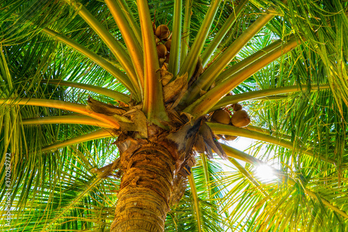
POLYGON ((125 150, 121 165, 124 173, 111 232, 164 231, 175 171, 171 153, 147 141, 125 150))

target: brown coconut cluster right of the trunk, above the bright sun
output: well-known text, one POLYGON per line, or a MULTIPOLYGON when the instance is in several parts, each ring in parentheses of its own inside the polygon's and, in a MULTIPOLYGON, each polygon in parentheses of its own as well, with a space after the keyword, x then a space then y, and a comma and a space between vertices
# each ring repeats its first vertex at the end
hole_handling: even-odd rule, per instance
MULTIPOLYGON (((251 122, 250 116, 248 116, 248 113, 243 109, 242 105, 234 104, 232 105, 232 107, 235 111, 232 115, 230 114, 230 111, 226 109, 217 109, 212 114, 210 121, 223 123, 226 125, 233 125, 235 127, 246 127, 247 125, 249 125, 249 123, 251 122)), ((237 139, 237 136, 226 134, 217 134, 216 137, 218 137, 219 139, 224 138, 228 141, 237 139)))

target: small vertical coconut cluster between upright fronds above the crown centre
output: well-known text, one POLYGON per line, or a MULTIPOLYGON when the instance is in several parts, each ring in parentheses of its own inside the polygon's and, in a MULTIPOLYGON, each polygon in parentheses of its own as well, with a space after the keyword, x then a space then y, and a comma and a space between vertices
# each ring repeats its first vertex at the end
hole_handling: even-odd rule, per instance
POLYGON ((158 58, 160 61, 163 60, 165 63, 168 63, 172 44, 171 31, 169 31, 166 24, 161 24, 156 28, 155 23, 153 23, 153 28, 158 58))

